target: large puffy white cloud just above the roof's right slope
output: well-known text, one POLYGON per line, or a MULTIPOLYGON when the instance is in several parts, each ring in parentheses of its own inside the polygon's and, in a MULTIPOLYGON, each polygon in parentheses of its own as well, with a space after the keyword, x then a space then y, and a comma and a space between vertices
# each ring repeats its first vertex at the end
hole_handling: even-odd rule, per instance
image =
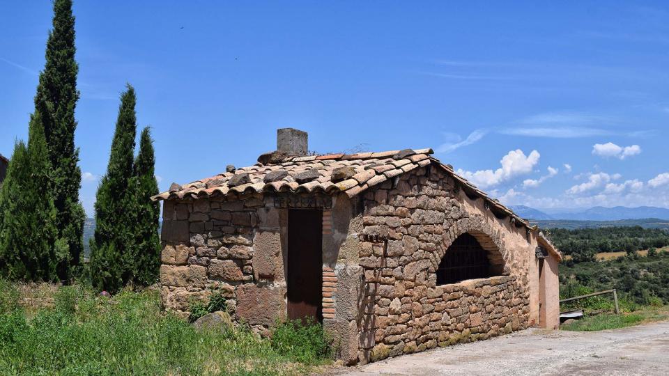
POLYGON ((532 150, 530 155, 527 156, 525 156, 523 150, 511 150, 500 160, 502 167, 495 171, 479 170, 470 172, 459 169, 458 173, 479 187, 492 187, 518 175, 531 173, 532 169, 539 163, 539 157, 541 155, 537 150, 532 150))

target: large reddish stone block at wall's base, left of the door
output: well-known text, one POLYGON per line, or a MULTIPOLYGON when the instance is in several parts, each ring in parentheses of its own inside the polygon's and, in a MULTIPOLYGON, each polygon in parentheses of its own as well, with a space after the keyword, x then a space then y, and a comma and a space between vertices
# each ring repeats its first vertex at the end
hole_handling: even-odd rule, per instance
POLYGON ((285 296, 286 287, 283 285, 240 285, 237 289, 237 316, 251 325, 270 327, 277 319, 286 317, 285 296))

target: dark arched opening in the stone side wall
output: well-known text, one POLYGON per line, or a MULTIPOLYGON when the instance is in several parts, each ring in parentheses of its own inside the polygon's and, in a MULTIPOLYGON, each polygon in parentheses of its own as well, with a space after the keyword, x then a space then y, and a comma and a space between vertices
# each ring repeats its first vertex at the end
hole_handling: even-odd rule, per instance
POLYGON ((491 242, 484 244, 486 248, 470 233, 457 237, 441 259, 437 269, 437 285, 502 275, 503 260, 496 246, 492 246, 491 242))

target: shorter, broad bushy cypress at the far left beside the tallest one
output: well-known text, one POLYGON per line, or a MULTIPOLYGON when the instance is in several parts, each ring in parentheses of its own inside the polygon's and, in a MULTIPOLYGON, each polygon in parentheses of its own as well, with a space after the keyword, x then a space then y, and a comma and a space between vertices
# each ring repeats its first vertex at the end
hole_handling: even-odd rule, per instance
POLYGON ((56 240, 56 208, 49 195, 51 163, 40 113, 31 116, 28 146, 17 142, 0 191, 0 265, 10 279, 57 281, 70 257, 56 240))

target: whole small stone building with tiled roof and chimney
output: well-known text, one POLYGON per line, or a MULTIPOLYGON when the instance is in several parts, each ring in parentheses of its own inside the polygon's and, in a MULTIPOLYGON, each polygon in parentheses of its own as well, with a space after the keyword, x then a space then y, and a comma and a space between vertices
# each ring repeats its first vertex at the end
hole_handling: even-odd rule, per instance
POLYGON ((558 324, 562 256, 431 149, 307 155, 278 130, 254 166, 164 200, 164 306, 219 290, 264 331, 312 318, 348 364, 558 324))

